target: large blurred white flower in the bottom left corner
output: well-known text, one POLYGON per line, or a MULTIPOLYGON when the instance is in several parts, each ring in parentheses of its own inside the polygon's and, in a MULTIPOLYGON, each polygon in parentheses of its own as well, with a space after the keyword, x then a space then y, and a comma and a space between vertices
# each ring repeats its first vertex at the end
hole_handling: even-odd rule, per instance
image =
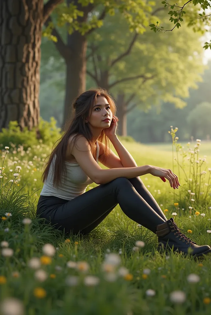
POLYGON ((24 315, 24 305, 17 298, 7 297, 1 302, 0 311, 2 315, 24 315))

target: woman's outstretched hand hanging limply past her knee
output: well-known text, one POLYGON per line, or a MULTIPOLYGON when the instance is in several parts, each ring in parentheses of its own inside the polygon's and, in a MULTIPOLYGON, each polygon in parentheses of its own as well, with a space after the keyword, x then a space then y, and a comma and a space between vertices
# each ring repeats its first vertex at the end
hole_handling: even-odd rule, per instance
POLYGON ((153 165, 149 166, 150 166, 149 174, 160 177, 161 179, 166 178, 167 180, 169 180, 170 186, 173 187, 174 189, 180 186, 177 175, 174 174, 171 169, 163 169, 162 167, 153 165))

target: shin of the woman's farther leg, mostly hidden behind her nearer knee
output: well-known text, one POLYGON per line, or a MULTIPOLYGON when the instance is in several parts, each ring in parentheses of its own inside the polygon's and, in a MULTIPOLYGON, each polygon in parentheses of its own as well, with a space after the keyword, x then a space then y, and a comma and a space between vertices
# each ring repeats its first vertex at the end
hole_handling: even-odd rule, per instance
POLYGON ((165 217, 163 211, 160 209, 159 204, 156 202, 153 195, 143 184, 143 181, 140 179, 140 177, 133 177, 129 178, 128 180, 131 182, 139 195, 142 196, 143 199, 146 200, 146 202, 152 207, 152 209, 154 209, 154 211, 157 212, 161 216, 161 218, 167 221, 168 219, 165 217))

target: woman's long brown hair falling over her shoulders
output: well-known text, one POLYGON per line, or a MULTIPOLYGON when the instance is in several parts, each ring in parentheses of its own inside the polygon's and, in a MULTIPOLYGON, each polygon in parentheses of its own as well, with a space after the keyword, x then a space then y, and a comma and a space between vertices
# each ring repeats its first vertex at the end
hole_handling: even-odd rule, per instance
MULTIPOLYGON (((68 129, 57 140, 57 141, 59 141, 59 143, 57 144, 57 146, 54 149, 52 149, 53 151, 51 151, 49 160, 46 163, 45 170, 41 176, 41 180, 43 183, 47 179, 48 172, 49 172, 49 169, 51 166, 51 162, 52 162, 55 154, 56 154, 56 161, 54 163, 53 186, 56 185, 57 189, 58 189, 59 184, 61 184, 61 174, 62 174, 63 170, 65 170, 65 180, 66 180, 67 167, 64 163, 65 154, 66 154, 66 149, 67 149, 69 138, 73 134, 76 134, 72 138, 73 143, 75 143, 76 137, 78 137, 78 135, 82 135, 88 140, 89 145, 91 147, 91 153, 96 159, 95 142, 93 140, 93 135, 92 135, 92 132, 89 128, 89 124, 85 123, 85 118, 89 116, 89 111, 90 111, 90 109, 92 109, 94 102, 97 101, 97 96, 104 96, 106 98, 106 100, 108 101, 108 103, 110 105, 111 112, 112 112, 113 116, 115 116, 116 104, 114 102, 114 99, 107 93, 106 89, 103 89, 103 88, 89 89, 88 91, 86 91, 86 92, 80 94, 78 97, 76 97, 73 100, 72 105, 71 105, 72 106, 72 117, 71 117, 70 121, 68 122, 68 125, 69 125, 68 129)), ((118 118, 116 120, 118 121, 118 118)), ((109 152, 108 148, 110 148, 109 140, 105 134, 104 129, 102 129, 98 140, 100 142, 105 143, 104 158, 103 158, 103 161, 104 161, 108 157, 108 152, 109 152), (108 146, 108 148, 107 148, 107 146, 108 146)), ((57 141, 54 143, 54 145, 57 143, 57 141)))

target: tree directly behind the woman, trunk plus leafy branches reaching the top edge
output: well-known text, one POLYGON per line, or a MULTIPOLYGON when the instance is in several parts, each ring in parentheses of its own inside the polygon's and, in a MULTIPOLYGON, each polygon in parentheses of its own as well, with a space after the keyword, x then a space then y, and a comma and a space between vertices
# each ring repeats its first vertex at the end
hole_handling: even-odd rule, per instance
POLYGON ((143 0, 67 0, 57 10, 56 19, 49 17, 45 25, 46 36, 51 34, 59 53, 66 63, 66 94, 64 105, 64 122, 69 115, 73 99, 86 89, 87 38, 98 27, 101 27, 107 15, 122 14, 130 31, 143 33, 150 21, 154 2, 143 0), (73 14, 74 12, 74 14, 73 14), (56 27, 65 27, 66 38, 56 27))

